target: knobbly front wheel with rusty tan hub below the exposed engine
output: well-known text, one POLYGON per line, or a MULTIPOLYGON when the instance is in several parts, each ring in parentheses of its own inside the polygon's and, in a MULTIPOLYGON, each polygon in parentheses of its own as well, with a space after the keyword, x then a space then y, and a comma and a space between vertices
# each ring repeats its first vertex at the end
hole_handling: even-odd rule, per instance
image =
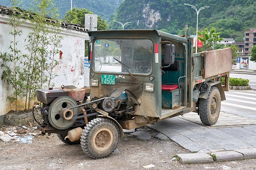
POLYGON ((84 127, 80 143, 87 156, 101 159, 110 156, 115 150, 119 136, 119 129, 113 121, 96 118, 84 127))

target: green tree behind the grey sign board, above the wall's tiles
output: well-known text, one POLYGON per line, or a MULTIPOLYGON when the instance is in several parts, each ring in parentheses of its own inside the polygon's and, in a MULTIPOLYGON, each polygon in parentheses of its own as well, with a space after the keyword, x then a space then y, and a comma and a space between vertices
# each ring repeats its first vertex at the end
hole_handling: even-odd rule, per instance
MULTIPOLYGON (((67 11, 65 15, 65 20, 70 23, 80 24, 84 27, 84 14, 93 14, 92 11, 85 8, 72 8, 72 10, 67 11)), ((108 24, 98 15, 98 30, 109 29, 108 24)))

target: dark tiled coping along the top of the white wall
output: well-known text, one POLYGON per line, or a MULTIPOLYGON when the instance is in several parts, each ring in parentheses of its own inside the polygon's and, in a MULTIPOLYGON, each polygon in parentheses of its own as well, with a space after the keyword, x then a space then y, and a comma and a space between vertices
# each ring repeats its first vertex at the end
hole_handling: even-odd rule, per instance
MULTIPOLYGON (((7 6, 1 6, 1 5, 0 5, 0 14, 6 14, 6 15, 20 14, 19 17, 21 18, 25 18, 25 17, 33 18, 35 16, 34 13, 17 8, 17 7, 11 8, 7 6), (23 14, 26 14, 26 16, 24 15, 24 17, 22 17, 23 14)), ((48 17, 48 16, 45 17, 45 21, 47 23, 60 23, 60 26, 62 28, 68 28, 71 30, 76 30, 81 32, 88 31, 86 28, 83 28, 80 24, 73 24, 66 21, 59 21, 59 20, 52 19, 51 17, 48 17)))

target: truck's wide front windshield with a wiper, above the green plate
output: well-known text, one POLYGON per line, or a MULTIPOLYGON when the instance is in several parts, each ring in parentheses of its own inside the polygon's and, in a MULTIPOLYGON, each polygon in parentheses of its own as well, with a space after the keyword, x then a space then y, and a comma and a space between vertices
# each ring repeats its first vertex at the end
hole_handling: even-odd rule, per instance
POLYGON ((93 69, 102 72, 149 74, 152 71, 151 40, 96 40, 93 69))

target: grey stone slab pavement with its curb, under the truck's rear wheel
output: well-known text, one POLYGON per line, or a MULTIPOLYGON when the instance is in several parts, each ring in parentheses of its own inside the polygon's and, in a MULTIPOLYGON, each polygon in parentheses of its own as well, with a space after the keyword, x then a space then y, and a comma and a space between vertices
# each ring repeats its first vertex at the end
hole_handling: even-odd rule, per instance
MULTIPOLYGON (((216 161, 256 158, 256 117, 221 112, 218 122, 207 126, 201 123, 197 113, 191 112, 148 127, 168 136, 192 154, 214 154, 216 161)), ((190 159, 183 158, 182 162, 198 162, 197 154, 189 155, 190 159)), ((185 155, 178 154, 180 160, 185 155)), ((199 155, 198 158, 204 162, 209 157, 199 155)))

